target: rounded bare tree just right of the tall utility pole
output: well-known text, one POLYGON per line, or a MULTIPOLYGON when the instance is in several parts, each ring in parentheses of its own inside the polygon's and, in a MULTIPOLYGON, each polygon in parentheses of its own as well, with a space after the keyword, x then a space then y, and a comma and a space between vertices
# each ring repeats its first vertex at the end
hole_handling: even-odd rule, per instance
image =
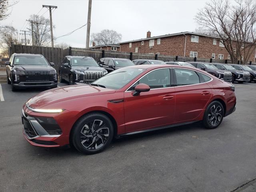
POLYGON ((95 42, 96 46, 115 44, 121 41, 122 34, 114 30, 104 29, 99 33, 92 33, 90 39, 91 43, 95 42))

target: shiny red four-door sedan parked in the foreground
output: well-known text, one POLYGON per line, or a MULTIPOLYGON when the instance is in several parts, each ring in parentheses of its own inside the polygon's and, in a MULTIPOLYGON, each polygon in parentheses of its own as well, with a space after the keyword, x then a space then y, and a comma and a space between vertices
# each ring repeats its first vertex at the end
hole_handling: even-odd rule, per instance
POLYGON ((200 69, 138 65, 34 96, 23 106, 22 124, 34 146, 95 154, 113 137, 197 121, 217 128, 235 106, 234 86, 200 69))

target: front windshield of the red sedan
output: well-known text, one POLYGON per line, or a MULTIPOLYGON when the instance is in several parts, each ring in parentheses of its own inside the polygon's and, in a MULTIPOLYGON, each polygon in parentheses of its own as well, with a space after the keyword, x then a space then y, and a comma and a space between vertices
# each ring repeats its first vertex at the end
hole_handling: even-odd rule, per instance
POLYGON ((120 68, 115 70, 98 80, 92 82, 92 84, 99 84, 100 86, 105 86, 108 89, 120 89, 131 80, 136 78, 139 74, 144 72, 145 69, 138 68, 120 68))

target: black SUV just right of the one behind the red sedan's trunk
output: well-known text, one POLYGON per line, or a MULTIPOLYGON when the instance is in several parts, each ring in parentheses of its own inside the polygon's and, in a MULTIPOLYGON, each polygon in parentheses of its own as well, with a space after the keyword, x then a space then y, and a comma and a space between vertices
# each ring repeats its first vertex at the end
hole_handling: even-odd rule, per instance
POLYGON ((238 83, 248 82, 250 80, 250 73, 246 71, 237 70, 236 68, 232 67, 228 64, 220 64, 220 63, 212 63, 218 69, 221 70, 229 70, 232 73, 232 80, 231 82, 234 83, 235 81, 238 83))

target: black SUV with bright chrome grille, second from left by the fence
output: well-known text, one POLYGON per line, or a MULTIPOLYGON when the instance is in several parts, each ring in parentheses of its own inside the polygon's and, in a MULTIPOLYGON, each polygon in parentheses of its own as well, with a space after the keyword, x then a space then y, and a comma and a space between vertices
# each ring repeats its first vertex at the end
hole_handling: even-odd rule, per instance
POLYGON ((65 56, 59 70, 60 82, 66 80, 70 85, 90 84, 108 72, 92 57, 65 56))

